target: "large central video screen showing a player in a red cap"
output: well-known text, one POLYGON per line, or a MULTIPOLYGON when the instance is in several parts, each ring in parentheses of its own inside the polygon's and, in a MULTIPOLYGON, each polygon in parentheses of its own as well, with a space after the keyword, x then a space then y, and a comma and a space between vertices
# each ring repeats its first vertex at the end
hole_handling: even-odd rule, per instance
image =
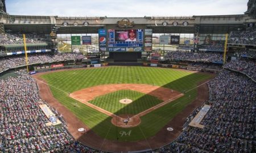
POLYGON ((110 52, 142 52, 143 29, 108 29, 110 52))

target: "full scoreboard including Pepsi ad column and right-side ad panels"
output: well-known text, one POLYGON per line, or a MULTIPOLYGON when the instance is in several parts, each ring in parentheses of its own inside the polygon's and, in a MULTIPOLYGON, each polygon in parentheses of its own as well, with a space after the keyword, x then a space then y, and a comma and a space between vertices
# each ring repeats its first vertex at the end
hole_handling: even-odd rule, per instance
POLYGON ((152 29, 99 29, 101 52, 151 52, 152 29))

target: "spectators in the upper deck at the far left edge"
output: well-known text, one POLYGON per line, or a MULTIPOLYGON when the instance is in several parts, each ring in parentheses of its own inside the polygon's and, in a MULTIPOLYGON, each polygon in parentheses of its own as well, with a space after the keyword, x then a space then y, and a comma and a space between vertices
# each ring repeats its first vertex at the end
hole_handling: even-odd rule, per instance
MULTIPOLYGON (((38 33, 27 33, 26 43, 36 44, 36 43, 46 43, 46 37, 38 33)), ((23 34, 22 33, 0 33, 0 45, 11 45, 11 44, 23 44, 23 34)))

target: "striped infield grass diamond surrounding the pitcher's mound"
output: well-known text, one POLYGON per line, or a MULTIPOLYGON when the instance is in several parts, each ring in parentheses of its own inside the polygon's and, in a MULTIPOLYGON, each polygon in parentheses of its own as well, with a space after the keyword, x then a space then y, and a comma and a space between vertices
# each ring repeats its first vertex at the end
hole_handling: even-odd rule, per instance
POLYGON ((133 90, 119 90, 89 101, 89 103, 114 114, 138 114, 162 102, 157 97, 133 90), (126 98, 133 100, 133 103, 122 104, 119 102, 119 100, 126 98))

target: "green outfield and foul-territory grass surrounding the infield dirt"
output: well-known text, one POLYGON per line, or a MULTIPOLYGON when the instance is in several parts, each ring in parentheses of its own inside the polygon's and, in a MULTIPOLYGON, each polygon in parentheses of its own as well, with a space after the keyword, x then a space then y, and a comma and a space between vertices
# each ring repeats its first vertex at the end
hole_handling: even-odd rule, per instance
MULTIPOLYGON (((115 141, 138 141, 155 135, 177 113, 195 100, 197 83, 209 79, 210 75, 156 67, 115 66, 59 71, 44 74, 42 78, 47 80, 53 96, 100 137, 115 141), (139 78, 139 81, 137 78, 139 78), (67 94, 86 87, 114 83, 144 83, 171 88, 179 92, 195 89, 186 92, 183 97, 172 101, 172 103, 146 114, 141 118, 141 124, 134 128, 117 128, 112 125, 109 116, 87 107, 79 101, 77 101, 77 107, 73 107, 76 100, 68 97, 67 94), (188 95, 191 95, 191 97, 189 98, 188 95), (121 137, 119 134, 119 131, 128 132, 130 130, 130 135, 121 137)), ((123 109, 125 108, 120 108, 115 113, 122 112, 123 109)))

